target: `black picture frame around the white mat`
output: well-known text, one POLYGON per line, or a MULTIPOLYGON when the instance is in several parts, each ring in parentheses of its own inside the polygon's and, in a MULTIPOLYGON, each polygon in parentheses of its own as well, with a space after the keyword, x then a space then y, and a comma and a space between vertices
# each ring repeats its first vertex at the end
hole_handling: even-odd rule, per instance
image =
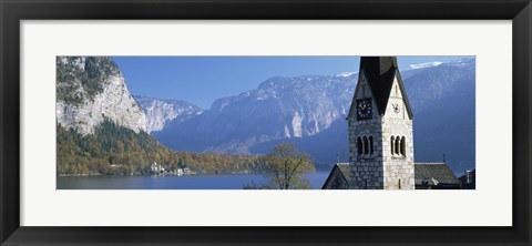
MULTIPOLYGON (((0 0, 1 245, 530 245, 530 0, 0 0), (20 21, 135 19, 512 20, 511 227, 20 226, 20 21)), ((495 182, 495 181, 494 181, 495 182)), ((45 212, 43 212, 45 213, 45 212)), ((490 216, 490 215, 487 215, 490 216)))

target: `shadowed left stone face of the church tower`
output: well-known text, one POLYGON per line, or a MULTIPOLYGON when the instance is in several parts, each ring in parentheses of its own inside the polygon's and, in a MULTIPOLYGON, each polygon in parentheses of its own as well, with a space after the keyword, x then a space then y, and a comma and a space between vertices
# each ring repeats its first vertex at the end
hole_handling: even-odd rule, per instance
MULTIPOLYGON (((357 89, 352 104, 356 105, 356 100, 372 98, 371 92, 365 81, 364 75, 358 81, 357 89)), ((349 167, 351 170, 351 184, 356 189, 382 189, 383 188, 383 166, 382 166, 382 126, 381 116, 378 113, 375 99, 372 104, 371 120, 357 121, 356 109, 350 114, 348 120, 349 134, 349 167), (357 137, 374 137, 374 154, 358 155, 357 137)))

